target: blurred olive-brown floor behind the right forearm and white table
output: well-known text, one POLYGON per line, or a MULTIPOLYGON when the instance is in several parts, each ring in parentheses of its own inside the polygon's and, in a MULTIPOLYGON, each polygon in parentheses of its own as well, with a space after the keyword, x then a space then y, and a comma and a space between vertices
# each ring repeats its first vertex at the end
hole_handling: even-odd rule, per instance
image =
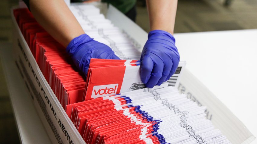
MULTIPOLYGON (((144 0, 136 23, 149 32, 144 0)), ((257 28, 257 0, 178 0, 174 33, 257 28)))

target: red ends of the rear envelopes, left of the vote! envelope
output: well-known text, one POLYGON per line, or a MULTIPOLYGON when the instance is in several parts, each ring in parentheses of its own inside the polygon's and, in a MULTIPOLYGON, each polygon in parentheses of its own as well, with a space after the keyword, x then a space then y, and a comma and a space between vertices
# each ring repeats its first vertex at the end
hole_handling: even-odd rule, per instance
POLYGON ((81 102, 86 82, 65 48, 44 31, 27 8, 15 9, 14 15, 40 70, 63 108, 81 102))

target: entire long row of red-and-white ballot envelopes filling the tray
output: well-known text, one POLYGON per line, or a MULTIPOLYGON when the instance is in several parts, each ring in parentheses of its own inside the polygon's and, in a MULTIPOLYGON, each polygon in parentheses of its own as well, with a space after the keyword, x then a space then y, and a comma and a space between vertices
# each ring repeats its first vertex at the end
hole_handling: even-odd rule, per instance
MULTIPOLYGON (((198 106, 169 83, 146 88, 140 80, 140 52, 134 40, 92 5, 70 6, 85 32, 110 46, 122 60, 92 58, 83 76, 65 48, 26 8, 14 16, 31 53, 68 117, 86 143, 215 143, 229 140, 198 106)), ((178 83, 184 63, 172 77, 178 83)))

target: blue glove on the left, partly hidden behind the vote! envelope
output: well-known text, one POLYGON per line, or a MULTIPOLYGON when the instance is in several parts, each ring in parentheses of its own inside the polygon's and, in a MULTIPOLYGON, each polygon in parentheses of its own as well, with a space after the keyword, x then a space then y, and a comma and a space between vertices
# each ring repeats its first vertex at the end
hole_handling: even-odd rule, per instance
POLYGON ((66 48, 75 65, 87 76, 90 58, 119 59, 112 49, 82 34, 74 38, 66 48))

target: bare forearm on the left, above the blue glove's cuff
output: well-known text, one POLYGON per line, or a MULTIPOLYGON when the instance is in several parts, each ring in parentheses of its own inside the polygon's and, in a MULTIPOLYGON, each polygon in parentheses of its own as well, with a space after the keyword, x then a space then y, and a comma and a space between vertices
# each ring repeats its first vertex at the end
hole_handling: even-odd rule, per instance
POLYGON ((63 0, 30 0, 31 13, 37 22, 60 44, 70 41, 84 31, 63 0))

